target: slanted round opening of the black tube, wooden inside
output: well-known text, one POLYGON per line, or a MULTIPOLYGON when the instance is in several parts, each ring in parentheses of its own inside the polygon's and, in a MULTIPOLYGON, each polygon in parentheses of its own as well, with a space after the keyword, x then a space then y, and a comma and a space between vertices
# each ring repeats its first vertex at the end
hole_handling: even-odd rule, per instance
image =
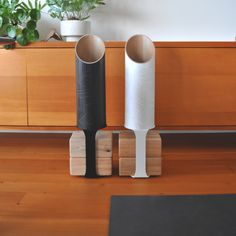
POLYGON ((105 54, 104 42, 96 35, 85 35, 76 45, 76 56, 87 64, 98 62, 105 54))

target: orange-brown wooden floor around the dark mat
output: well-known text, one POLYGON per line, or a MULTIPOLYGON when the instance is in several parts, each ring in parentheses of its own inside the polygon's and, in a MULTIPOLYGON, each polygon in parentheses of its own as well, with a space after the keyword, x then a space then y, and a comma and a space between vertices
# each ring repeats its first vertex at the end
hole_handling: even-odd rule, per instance
POLYGON ((0 134, 0 235, 108 235, 111 195, 236 193, 236 134, 165 134, 163 176, 69 175, 68 134, 0 134))

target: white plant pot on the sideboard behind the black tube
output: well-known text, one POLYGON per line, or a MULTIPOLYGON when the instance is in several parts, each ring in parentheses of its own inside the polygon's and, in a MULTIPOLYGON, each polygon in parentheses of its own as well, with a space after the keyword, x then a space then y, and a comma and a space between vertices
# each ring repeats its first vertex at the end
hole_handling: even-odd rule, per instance
POLYGON ((61 36, 65 37, 67 42, 76 42, 83 35, 90 34, 91 22, 79 20, 61 21, 61 36))

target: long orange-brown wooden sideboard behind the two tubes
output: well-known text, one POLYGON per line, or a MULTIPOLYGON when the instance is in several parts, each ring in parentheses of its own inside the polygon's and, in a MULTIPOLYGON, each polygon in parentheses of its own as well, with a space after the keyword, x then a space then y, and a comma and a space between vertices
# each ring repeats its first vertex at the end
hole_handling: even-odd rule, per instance
MULTIPOLYGON (((0 49, 0 129, 76 129, 74 46, 39 42, 0 49)), ((124 123, 124 46, 106 42, 110 128, 124 123)), ((235 130, 236 43, 155 46, 157 128, 235 130)))

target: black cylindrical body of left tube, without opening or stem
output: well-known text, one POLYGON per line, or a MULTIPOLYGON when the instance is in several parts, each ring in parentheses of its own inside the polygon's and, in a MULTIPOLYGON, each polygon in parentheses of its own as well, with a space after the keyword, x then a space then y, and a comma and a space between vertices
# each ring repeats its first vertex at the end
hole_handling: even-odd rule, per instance
POLYGON ((81 129, 106 127, 105 55, 87 64, 76 58, 77 125, 81 129))

